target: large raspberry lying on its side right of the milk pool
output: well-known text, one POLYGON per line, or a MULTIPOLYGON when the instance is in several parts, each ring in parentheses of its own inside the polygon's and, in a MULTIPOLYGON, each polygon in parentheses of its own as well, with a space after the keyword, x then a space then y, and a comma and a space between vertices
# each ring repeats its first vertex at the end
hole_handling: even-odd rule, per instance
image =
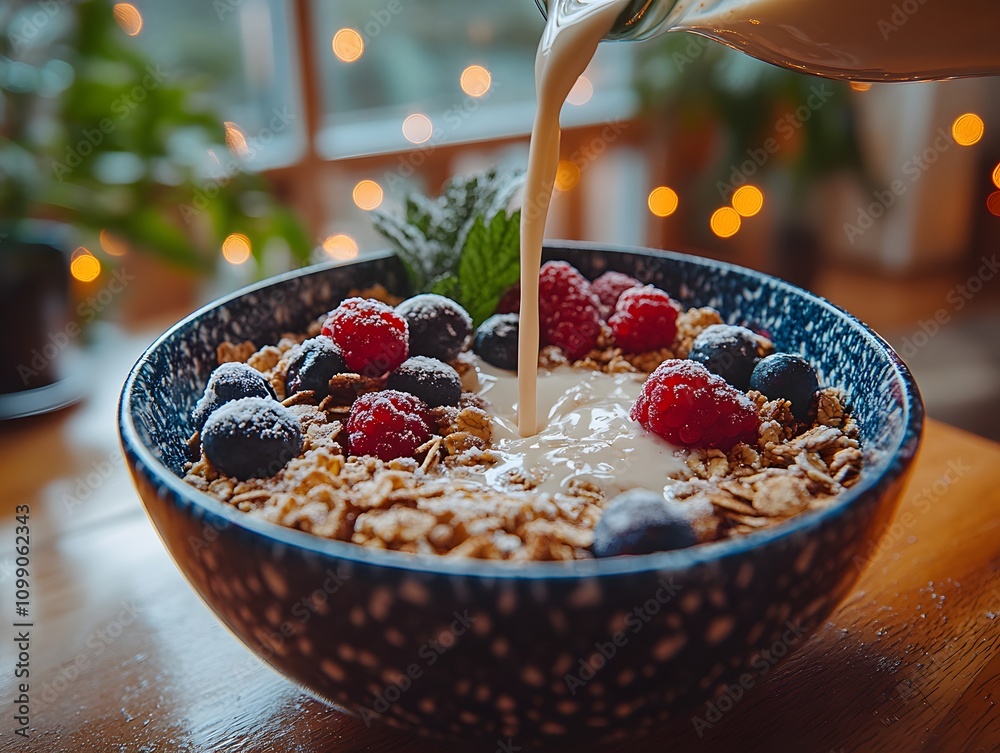
POLYGON ((729 450, 757 439, 757 407, 695 361, 669 359, 649 375, 629 416, 668 442, 729 450))

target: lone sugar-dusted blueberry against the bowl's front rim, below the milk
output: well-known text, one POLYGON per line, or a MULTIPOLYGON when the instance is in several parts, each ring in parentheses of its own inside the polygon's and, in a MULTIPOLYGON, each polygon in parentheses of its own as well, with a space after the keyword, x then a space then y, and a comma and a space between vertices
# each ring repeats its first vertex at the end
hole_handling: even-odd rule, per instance
POLYGON ((676 503, 648 489, 631 489, 608 502, 594 528, 594 556, 651 554, 698 543, 676 503))

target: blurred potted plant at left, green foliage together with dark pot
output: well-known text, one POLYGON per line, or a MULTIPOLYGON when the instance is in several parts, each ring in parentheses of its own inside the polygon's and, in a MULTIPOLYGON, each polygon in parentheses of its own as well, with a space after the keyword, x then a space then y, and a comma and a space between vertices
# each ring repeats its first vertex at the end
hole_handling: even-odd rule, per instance
MULTIPOLYGON (((253 145, 200 104, 221 74, 164 70, 133 39, 141 26, 107 0, 0 5, 0 316, 21 323, 0 330, 0 418, 79 397, 67 353, 105 305, 71 312, 71 253, 73 276, 105 297, 129 279, 113 269, 126 250, 209 273, 240 234, 258 260, 275 243, 309 257, 299 219, 244 170, 253 145)), ((164 284, 133 277, 133 300, 164 284)))

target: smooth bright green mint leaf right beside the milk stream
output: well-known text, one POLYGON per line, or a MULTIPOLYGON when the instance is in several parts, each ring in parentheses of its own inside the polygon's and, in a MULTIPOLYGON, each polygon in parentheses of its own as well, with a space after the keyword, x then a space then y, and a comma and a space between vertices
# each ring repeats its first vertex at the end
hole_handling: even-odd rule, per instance
POLYGON ((478 215, 458 259, 458 302, 478 327, 520 279, 521 213, 497 212, 489 225, 478 215))

